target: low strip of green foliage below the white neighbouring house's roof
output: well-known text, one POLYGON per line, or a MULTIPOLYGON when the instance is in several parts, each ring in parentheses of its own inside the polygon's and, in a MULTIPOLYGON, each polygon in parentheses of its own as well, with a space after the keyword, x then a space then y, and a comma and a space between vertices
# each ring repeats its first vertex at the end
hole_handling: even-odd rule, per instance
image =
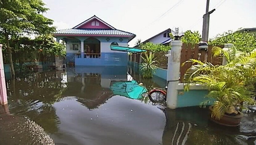
POLYGON ((153 44, 152 42, 147 42, 145 44, 140 44, 140 48, 151 50, 153 52, 160 52, 160 51, 167 52, 171 48, 171 46, 165 46, 162 44, 153 44))

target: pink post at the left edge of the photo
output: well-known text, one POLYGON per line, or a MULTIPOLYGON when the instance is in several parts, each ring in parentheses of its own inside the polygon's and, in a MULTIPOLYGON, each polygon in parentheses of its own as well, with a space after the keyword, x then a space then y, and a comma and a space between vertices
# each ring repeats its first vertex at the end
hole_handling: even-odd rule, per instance
POLYGON ((7 92, 6 92, 5 75, 4 75, 2 44, 0 44, 0 104, 7 104, 7 92))

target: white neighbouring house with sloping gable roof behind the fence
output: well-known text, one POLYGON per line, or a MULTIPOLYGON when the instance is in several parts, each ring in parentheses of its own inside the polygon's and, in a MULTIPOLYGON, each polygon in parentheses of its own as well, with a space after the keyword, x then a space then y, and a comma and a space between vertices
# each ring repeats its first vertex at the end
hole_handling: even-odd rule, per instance
MULTIPOLYGON (((156 34, 155 36, 141 42, 141 44, 145 44, 147 42, 152 42, 153 44, 169 45, 170 42, 172 41, 172 39, 170 38, 169 33, 171 33, 170 28, 168 28, 168 29, 156 34)), ((138 45, 136 45, 135 47, 138 47, 138 45)))

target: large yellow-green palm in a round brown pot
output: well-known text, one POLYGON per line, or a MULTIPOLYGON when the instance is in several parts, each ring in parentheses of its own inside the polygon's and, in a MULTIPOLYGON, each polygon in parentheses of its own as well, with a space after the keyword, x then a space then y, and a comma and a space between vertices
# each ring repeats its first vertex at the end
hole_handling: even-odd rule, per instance
MULTIPOLYGON (((188 82, 186 89, 189 89, 190 83, 206 85, 209 90, 206 97, 215 100, 209 107, 211 120, 222 125, 238 126, 243 114, 236 108, 241 108, 244 101, 251 102, 254 95, 250 80, 256 76, 256 53, 236 56, 235 49, 225 51, 220 48, 216 48, 214 52, 214 56, 223 55, 227 64, 214 66, 210 62, 193 59, 187 61, 194 65, 184 75, 188 82)), ((206 107, 208 103, 209 101, 202 102, 200 106, 206 107)))

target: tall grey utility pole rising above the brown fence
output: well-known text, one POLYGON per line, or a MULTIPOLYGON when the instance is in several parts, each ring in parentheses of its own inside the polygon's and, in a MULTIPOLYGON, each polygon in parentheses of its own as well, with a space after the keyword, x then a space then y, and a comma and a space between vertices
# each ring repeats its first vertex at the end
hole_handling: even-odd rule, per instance
POLYGON ((203 16, 204 22, 203 22, 202 41, 205 41, 205 42, 208 42, 210 14, 212 14, 215 11, 215 9, 209 11, 209 3, 210 3, 210 0, 207 0, 206 12, 203 16))

